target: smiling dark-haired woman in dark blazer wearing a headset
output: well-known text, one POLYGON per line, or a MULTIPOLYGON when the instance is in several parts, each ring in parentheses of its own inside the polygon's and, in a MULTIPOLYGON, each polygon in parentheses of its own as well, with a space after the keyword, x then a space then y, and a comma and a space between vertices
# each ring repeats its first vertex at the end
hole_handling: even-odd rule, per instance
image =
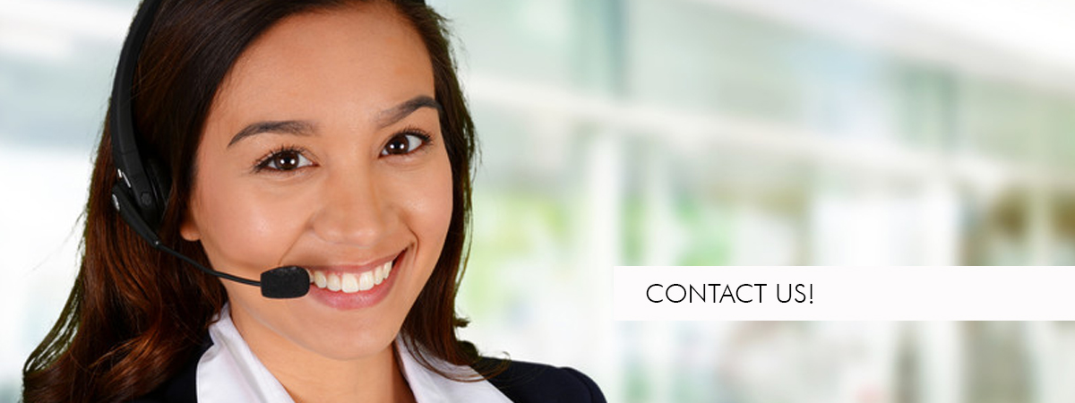
POLYGON ((146 1, 24 400, 603 401, 456 339, 474 138, 442 24, 414 0, 146 1), (274 267, 302 297, 235 282, 274 267))

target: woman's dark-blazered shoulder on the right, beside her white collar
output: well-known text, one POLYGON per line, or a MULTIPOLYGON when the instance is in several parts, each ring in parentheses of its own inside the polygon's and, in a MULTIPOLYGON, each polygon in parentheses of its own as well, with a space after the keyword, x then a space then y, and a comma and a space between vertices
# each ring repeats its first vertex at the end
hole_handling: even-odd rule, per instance
POLYGON ((475 366, 499 370, 489 383, 516 403, 605 402, 593 379, 573 368, 492 358, 475 366))

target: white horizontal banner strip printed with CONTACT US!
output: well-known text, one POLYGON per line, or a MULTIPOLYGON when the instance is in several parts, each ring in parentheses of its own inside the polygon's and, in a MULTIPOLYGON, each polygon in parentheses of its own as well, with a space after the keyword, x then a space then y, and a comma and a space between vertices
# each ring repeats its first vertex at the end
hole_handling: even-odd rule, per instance
POLYGON ((616 267, 617 320, 1075 320, 1075 267, 616 267))

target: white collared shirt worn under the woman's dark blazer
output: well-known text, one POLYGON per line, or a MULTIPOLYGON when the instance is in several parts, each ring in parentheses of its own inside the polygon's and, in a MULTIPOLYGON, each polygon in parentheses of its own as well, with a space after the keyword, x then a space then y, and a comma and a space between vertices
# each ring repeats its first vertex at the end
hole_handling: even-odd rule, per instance
MULTIPOLYGON (((198 361, 196 385, 199 403, 295 403, 239 334, 228 305, 220 310, 220 318, 210 326, 209 334, 213 346, 198 361)), ((396 339, 395 345, 403 376, 418 403, 511 402, 488 380, 448 379, 419 364, 400 337, 396 339)), ((444 361, 434 361, 433 364, 446 373, 462 375, 462 378, 477 375, 470 366, 444 361)))

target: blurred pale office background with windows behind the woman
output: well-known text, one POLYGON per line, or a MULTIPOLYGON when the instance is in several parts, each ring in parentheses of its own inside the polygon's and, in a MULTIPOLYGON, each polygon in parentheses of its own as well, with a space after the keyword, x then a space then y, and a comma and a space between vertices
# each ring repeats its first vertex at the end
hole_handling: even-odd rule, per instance
MULTIPOLYGON (((611 402, 1075 401, 1075 325, 610 306, 617 264, 1075 265, 1075 2, 430 3, 482 140, 460 310, 484 352, 611 402)), ((133 9, 0 0, 0 401, 70 290, 133 9)))

